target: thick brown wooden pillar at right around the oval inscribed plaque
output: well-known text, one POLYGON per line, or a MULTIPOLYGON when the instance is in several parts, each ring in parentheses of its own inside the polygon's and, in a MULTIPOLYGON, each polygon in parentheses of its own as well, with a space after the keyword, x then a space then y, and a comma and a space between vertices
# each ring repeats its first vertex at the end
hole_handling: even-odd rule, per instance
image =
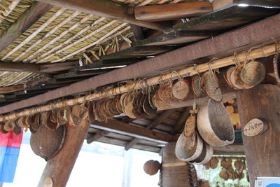
POLYGON ((237 104, 251 186, 257 176, 280 176, 280 87, 257 85, 237 91, 237 104), (269 122, 268 129, 255 137, 243 134, 253 118, 269 122))

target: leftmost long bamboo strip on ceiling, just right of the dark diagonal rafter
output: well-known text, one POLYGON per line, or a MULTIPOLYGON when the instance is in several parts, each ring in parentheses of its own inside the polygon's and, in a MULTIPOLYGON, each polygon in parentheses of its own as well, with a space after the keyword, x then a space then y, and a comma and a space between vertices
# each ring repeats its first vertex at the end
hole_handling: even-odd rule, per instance
POLYGON ((47 27, 53 20, 55 20, 59 15, 61 15, 65 10, 66 10, 66 8, 60 8, 59 11, 57 11, 54 15, 52 15, 46 22, 43 23, 43 25, 38 27, 38 29, 36 29, 35 32, 32 32, 32 34, 30 34, 27 37, 27 39, 22 41, 20 44, 18 44, 18 46, 13 48, 13 50, 10 50, 9 53, 7 53, 5 56, 3 56, 1 58, 1 60, 5 60, 7 57, 9 57, 13 53, 15 53, 16 50, 18 50, 22 46, 25 46, 25 44, 27 44, 29 41, 31 41, 31 39, 33 39, 38 33, 40 33, 43 29, 45 29, 45 27, 47 27))

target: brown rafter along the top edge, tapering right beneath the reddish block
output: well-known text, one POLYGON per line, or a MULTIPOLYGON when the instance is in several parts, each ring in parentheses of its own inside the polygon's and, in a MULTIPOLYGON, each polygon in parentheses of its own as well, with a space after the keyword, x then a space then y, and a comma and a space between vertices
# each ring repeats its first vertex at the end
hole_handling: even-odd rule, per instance
POLYGON ((69 8, 73 11, 80 11, 83 13, 89 13, 93 15, 98 15, 104 18, 110 18, 112 20, 120 20, 122 22, 128 22, 133 25, 139 25, 141 27, 147 27, 150 29, 156 29, 160 31, 168 32, 170 28, 162 26, 160 23, 156 22, 144 22, 141 20, 136 20, 134 15, 129 15, 128 6, 123 6, 109 0, 38 0, 46 4, 51 4, 53 6, 60 6, 64 8, 69 8))

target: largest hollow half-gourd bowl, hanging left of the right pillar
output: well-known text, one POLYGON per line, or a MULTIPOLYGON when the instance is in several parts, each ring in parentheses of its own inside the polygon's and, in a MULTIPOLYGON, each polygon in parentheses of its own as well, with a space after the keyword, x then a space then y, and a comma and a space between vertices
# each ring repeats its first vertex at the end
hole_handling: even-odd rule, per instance
POLYGON ((211 146, 226 146, 235 141, 235 131, 222 102, 209 99, 200 107, 197 129, 202 139, 211 146))

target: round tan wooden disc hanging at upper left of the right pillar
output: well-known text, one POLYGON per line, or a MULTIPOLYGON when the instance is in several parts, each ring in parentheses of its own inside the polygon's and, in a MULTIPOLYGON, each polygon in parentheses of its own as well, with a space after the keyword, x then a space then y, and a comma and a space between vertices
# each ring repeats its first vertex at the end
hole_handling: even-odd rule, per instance
POLYGON ((241 80, 247 85, 257 85, 265 78, 265 66, 261 62, 252 61, 241 70, 241 80))

